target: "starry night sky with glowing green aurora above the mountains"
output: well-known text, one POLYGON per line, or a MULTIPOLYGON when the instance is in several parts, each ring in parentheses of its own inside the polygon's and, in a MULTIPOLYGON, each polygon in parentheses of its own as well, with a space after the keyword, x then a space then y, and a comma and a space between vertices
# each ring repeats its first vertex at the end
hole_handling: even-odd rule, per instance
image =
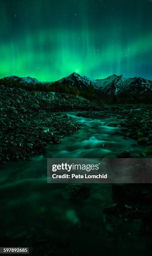
POLYGON ((0 78, 152 79, 152 0, 0 0, 0 78))

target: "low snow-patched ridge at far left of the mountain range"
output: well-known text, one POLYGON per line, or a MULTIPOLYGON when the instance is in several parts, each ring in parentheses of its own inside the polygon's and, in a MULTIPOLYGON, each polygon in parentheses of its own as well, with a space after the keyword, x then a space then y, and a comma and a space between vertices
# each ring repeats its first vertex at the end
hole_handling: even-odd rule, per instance
POLYGON ((38 79, 33 78, 33 77, 17 77, 17 76, 10 76, 10 77, 4 77, 3 78, 4 81, 7 80, 13 80, 16 81, 17 83, 20 84, 51 84, 51 82, 40 82, 38 81, 38 79))

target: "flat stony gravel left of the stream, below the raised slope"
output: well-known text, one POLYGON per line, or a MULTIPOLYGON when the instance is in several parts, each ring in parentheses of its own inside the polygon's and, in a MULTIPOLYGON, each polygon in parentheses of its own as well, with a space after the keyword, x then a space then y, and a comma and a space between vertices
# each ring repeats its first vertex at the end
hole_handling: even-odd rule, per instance
POLYGON ((67 117, 35 111, 30 114, 7 113, 0 120, 0 163, 25 159, 46 151, 50 143, 75 133, 79 125, 67 117))

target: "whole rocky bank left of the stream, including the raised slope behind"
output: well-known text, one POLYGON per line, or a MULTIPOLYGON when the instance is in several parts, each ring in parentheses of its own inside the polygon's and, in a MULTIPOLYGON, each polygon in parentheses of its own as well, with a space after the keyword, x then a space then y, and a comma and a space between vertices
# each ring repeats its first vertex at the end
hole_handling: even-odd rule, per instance
POLYGON ((29 92, 0 85, 0 163, 44 153, 79 125, 59 111, 96 110, 83 97, 55 92, 29 92))

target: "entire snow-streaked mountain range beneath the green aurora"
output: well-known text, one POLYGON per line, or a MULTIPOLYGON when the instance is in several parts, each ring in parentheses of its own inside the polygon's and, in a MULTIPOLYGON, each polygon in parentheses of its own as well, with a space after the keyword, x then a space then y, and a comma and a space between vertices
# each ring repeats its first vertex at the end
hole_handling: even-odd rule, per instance
MULTIPOLYGON (((17 83, 23 84, 52 84, 54 82, 40 82, 32 77, 4 77, 1 81, 14 80, 17 83)), ((104 79, 91 79, 86 76, 81 76, 76 72, 73 72, 67 77, 63 77, 56 81, 56 83, 66 84, 69 87, 76 87, 77 89, 86 89, 91 84, 95 90, 103 92, 108 95, 119 94, 151 94, 152 93, 152 81, 141 78, 133 77, 126 78, 122 75, 117 76, 113 74, 104 79)))

